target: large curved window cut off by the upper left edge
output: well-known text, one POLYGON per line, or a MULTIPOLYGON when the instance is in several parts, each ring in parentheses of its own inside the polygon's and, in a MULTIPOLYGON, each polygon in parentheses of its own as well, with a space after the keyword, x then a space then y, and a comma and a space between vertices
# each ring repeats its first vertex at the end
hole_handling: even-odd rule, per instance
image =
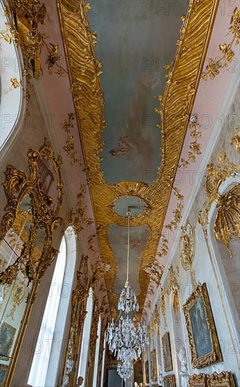
POLYGON ((1 135, 0 150, 3 148, 8 137, 13 132, 18 122, 23 104, 22 87, 13 87, 12 80, 21 80, 21 68, 19 52, 15 47, 11 32, 7 24, 11 21, 4 15, 5 6, 0 0, 0 25, 4 31, 5 39, 1 39, 1 77, 0 77, 0 106, 1 106, 1 135))

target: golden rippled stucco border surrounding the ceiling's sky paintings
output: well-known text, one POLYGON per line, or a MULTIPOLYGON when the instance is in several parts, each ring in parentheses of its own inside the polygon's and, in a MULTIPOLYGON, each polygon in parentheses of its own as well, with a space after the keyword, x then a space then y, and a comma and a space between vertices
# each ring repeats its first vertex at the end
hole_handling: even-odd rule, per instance
MULTIPOLYGON (((149 203, 151 207, 147 216, 142 214, 131 222, 132 227, 146 224, 150 229, 149 242, 139 258, 141 291, 138 299, 140 310, 142 310, 149 286, 149 276, 144 272, 144 267, 153 263, 156 257, 165 212, 172 191, 172 181, 179 164, 189 115, 201 78, 217 5, 218 1, 201 0, 198 4, 191 0, 189 12, 182 19, 183 25, 177 44, 177 53, 169 69, 167 86, 160 101, 160 108, 156 110, 161 117, 159 129, 164 139, 161 150, 163 165, 158 166, 156 180, 151 185, 135 181, 110 185, 104 179, 101 170, 102 132, 106 127, 106 122, 103 120, 104 100, 99 62, 94 53, 96 34, 89 29, 86 15, 88 7, 83 0, 58 0, 72 97, 84 148, 96 228, 99 231, 99 248, 103 261, 111 267, 111 270, 105 274, 111 312, 115 309, 115 303, 118 300, 118 296, 113 291, 117 272, 115 255, 110 248, 107 230, 110 224, 127 226, 127 221, 113 212, 111 205, 120 196, 136 196, 149 203), (187 66, 186 63, 191 63, 191 66, 187 66), (169 184, 170 181, 171 184, 169 184)), ((181 216, 181 208, 177 208, 173 222, 176 222, 179 216, 181 216)), ((175 223, 170 227, 175 227, 175 223)))

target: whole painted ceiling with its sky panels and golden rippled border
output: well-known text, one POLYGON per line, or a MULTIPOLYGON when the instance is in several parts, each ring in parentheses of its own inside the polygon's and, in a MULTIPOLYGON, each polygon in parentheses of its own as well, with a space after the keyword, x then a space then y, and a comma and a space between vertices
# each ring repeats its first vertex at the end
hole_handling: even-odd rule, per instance
MULTIPOLYGON (((84 1, 58 0, 101 260, 110 265, 105 281, 113 316, 125 283, 128 206, 132 281, 143 308, 144 269, 156 259, 217 9, 217 1, 190 0, 187 11, 188 1, 179 1, 180 20, 177 11, 156 12, 157 2, 146 3, 151 13, 143 13, 144 1, 97 1, 87 18, 84 1), (155 65, 143 72, 145 57, 155 65), (172 62, 167 77, 156 60, 172 62)), ((169 10, 173 3, 165 1, 169 10)))

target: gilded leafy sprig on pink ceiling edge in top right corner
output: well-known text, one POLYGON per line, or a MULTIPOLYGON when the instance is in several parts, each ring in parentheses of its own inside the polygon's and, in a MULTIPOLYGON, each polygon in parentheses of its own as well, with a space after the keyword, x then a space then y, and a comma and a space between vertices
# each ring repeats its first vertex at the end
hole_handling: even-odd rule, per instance
POLYGON ((232 40, 229 44, 220 44, 219 49, 222 53, 219 59, 213 60, 213 58, 208 59, 208 65, 206 67, 206 71, 203 72, 202 78, 203 80, 213 80, 216 75, 220 74, 221 68, 228 68, 229 63, 232 62, 232 58, 234 58, 235 53, 233 51, 233 46, 239 45, 239 27, 240 27, 240 10, 239 8, 234 9, 234 13, 232 14, 230 20, 229 33, 232 34, 232 40))

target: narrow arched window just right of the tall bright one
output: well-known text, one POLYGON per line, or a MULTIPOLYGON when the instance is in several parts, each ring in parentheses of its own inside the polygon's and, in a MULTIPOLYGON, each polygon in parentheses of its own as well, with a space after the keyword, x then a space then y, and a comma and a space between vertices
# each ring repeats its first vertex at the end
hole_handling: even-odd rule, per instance
POLYGON ((85 376, 86 376, 86 369, 87 369, 87 355, 89 351, 89 338, 90 338, 90 331, 91 331, 91 317, 93 312, 93 306, 94 306, 94 293, 93 291, 89 290, 89 297, 87 298, 87 315, 85 317, 84 326, 83 326, 83 332, 82 332, 82 345, 81 345, 81 352, 80 352, 80 365, 78 368, 78 374, 77 378, 79 376, 82 376, 85 383, 85 376))

